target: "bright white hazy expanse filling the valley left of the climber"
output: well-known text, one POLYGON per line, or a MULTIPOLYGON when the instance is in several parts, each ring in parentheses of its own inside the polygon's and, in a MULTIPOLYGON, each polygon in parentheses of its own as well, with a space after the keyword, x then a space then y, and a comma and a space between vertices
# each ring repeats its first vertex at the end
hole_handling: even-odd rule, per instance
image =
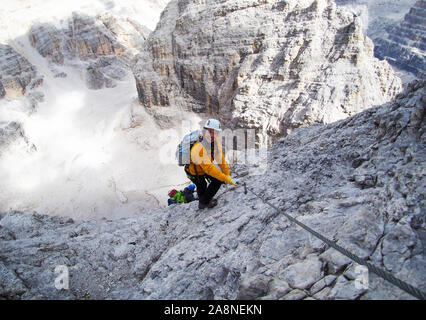
MULTIPOLYGON (((17 30, 9 25, 9 33, 2 34, 3 39, 9 38, 3 43, 36 66, 43 76, 38 91, 44 94, 44 100, 33 112, 27 108, 26 98, 0 100, 0 122, 20 123, 27 139, 17 139, 1 150, 0 212, 35 210, 75 219, 115 219, 166 206, 167 191, 189 183, 171 151, 180 135, 187 133, 184 128, 180 130, 182 116, 174 119, 177 130, 158 127, 138 103, 131 72, 116 87, 101 90, 88 89, 82 68, 75 65, 55 66, 67 74, 66 78, 55 78, 46 59, 25 36, 29 21, 40 21, 49 2, 53 4, 45 1, 44 7, 36 7, 35 1, 12 1, 2 9, 2 24, 8 19, 6 9, 25 21, 16 26, 17 30), (159 153, 164 154, 167 146, 169 161, 160 161, 159 153)), ((57 7, 48 16, 59 19, 85 6, 94 13, 94 8, 102 5, 117 12, 137 13, 136 1, 125 2, 127 11, 123 1, 119 2, 122 7, 112 1, 74 1, 73 5, 66 2, 61 6, 55 2, 57 7)), ((152 24, 148 23, 150 27, 152 24)), ((186 120, 195 127, 201 119, 190 114, 186 120)))

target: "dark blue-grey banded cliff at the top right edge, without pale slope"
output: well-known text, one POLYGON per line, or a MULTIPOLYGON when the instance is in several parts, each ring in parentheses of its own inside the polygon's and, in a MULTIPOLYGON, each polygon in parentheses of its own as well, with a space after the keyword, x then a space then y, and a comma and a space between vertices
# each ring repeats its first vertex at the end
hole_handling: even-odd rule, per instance
POLYGON ((426 1, 420 0, 410 9, 399 25, 374 39, 374 53, 400 69, 426 78, 426 1))

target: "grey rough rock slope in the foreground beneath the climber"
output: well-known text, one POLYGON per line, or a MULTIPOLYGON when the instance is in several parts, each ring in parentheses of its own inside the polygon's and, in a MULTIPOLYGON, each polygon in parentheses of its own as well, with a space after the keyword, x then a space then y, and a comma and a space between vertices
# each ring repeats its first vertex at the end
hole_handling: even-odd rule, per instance
MULTIPOLYGON (((394 102, 305 126, 268 151, 267 170, 232 174, 351 252, 426 290, 425 85, 394 102), (268 188, 264 188, 267 184, 268 188)), ((237 178, 238 179, 238 178, 237 178)), ((121 220, 0 215, 0 296, 12 299, 412 299, 243 188, 219 204, 121 220), (58 290, 57 266, 69 271, 58 290)))

